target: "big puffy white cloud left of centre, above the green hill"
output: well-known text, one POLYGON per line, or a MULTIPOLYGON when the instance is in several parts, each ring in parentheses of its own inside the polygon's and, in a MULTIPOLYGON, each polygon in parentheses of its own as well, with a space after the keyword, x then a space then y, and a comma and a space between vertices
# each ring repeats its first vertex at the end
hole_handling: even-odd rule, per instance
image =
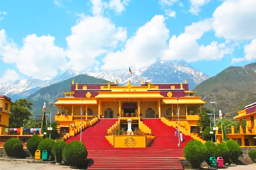
POLYGON ((116 48, 127 39, 127 30, 103 16, 85 16, 71 28, 67 40, 67 57, 73 70, 82 71, 95 64, 95 58, 116 48))

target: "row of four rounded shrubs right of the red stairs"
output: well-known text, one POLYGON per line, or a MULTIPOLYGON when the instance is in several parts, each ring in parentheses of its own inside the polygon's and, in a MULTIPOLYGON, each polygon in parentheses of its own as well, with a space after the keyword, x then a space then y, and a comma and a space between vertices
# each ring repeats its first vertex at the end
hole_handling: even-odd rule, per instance
POLYGON ((189 161, 193 168, 199 168, 202 162, 209 163, 210 157, 222 157, 224 163, 237 163, 243 151, 234 140, 215 145, 212 141, 205 144, 198 140, 191 140, 187 143, 184 150, 184 157, 189 161))

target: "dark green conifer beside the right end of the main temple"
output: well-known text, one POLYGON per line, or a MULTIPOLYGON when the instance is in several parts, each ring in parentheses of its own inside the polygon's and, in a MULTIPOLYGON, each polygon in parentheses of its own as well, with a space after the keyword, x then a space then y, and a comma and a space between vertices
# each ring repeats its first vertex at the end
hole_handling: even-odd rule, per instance
POLYGON ((197 122, 197 127, 195 129, 195 133, 197 133, 199 136, 202 136, 200 133, 200 129, 202 128, 202 131, 205 130, 208 126, 210 126, 210 116, 208 113, 211 111, 207 108, 202 108, 202 112, 199 114, 199 120, 197 122))

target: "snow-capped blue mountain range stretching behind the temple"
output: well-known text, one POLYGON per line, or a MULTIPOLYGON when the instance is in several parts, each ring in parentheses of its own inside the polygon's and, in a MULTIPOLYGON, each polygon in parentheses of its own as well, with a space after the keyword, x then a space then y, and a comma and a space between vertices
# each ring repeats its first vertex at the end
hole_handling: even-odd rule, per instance
POLYGON ((128 69, 127 71, 107 70, 97 73, 69 70, 51 80, 37 80, 34 78, 20 81, 17 80, 13 83, 0 85, 0 94, 7 95, 15 100, 19 97, 27 97, 34 94, 35 91, 42 87, 62 82, 63 80, 80 74, 102 78, 111 82, 115 82, 115 79, 117 79, 118 84, 127 84, 128 80, 131 79, 133 85, 139 85, 142 78, 144 81, 152 83, 180 83, 184 82, 185 78, 187 78, 190 89, 193 89, 197 84, 209 78, 207 75, 196 70, 185 62, 176 63, 169 61, 158 61, 148 67, 144 67, 139 70, 132 70, 132 74, 129 74, 128 69))

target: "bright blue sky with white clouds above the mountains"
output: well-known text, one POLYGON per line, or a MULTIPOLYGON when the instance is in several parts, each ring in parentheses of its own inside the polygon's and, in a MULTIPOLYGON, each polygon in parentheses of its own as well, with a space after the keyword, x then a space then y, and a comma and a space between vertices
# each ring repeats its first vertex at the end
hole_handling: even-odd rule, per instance
POLYGON ((214 76, 256 61, 250 9, 250 0, 2 0, 0 84, 159 60, 214 76))

